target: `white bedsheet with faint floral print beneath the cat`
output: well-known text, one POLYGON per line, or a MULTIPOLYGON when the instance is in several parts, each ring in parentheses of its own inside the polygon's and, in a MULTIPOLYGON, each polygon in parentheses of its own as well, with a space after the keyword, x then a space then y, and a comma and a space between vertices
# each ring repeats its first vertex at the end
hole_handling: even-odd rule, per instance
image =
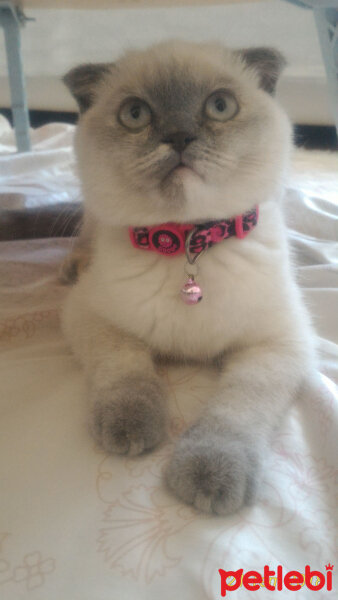
MULTIPOLYGON (((262 573, 264 565, 281 565, 284 572, 304 573, 310 565, 325 574, 325 565, 335 565, 333 158, 303 153, 285 202, 297 277, 318 332, 320 373, 276 436, 257 504, 230 517, 195 512, 170 496, 161 480, 175 439, 212 393, 213 373, 163 368, 169 439, 147 456, 105 455, 88 433, 83 374, 59 327, 67 288, 57 273, 72 242, 0 244, 1 600, 217 600, 220 568, 262 573)), ((297 593, 261 587, 257 599, 334 598, 337 566, 332 592, 325 586, 316 593, 306 585, 297 593)), ((253 592, 242 585, 227 597, 246 600, 253 592)))

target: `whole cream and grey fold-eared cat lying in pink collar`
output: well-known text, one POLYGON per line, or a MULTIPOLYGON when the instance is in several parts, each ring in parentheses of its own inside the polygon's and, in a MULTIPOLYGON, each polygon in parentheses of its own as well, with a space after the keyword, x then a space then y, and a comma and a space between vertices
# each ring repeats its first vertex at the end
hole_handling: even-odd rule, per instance
POLYGON ((83 255, 88 264, 62 323, 85 370, 91 429, 110 453, 155 448, 167 422, 158 359, 217 364, 218 393, 164 475, 206 513, 255 500, 275 431, 314 368, 281 211, 291 128, 274 92, 284 64, 271 48, 169 41, 65 76, 80 109, 86 215, 68 268, 83 255), (222 227, 232 234, 219 241, 222 227), (207 240, 198 260, 196 232, 195 246, 207 240), (185 272, 195 305, 180 295, 185 272))

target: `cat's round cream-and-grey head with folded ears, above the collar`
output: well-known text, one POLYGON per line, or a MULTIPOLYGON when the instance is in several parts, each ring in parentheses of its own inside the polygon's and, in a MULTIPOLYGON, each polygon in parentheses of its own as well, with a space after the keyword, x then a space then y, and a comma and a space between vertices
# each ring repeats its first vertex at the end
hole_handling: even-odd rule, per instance
POLYGON ((290 148, 273 98, 283 66, 271 49, 175 41, 70 71, 89 210, 113 225, 197 222, 278 197, 290 148))

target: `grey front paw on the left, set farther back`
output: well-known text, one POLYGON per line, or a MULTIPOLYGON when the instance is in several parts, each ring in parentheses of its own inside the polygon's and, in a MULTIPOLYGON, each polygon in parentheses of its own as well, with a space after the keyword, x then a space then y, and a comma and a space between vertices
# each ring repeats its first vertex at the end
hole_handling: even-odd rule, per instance
POLYGON ((92 391, 91 429, 109 453, 137 455, 165 437, 165 392, 157 379, 129 378, 92 391))

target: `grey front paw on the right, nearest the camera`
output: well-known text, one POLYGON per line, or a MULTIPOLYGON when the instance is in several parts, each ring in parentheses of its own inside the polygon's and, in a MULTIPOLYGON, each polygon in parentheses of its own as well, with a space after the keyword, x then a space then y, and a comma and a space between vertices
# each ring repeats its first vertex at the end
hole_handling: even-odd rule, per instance
POLYGON ((259 472, 258 456, 249 444, 192 429, 179 440, 165 477, 169 489, 187 504, 227 515, 252 503, 259 472))

